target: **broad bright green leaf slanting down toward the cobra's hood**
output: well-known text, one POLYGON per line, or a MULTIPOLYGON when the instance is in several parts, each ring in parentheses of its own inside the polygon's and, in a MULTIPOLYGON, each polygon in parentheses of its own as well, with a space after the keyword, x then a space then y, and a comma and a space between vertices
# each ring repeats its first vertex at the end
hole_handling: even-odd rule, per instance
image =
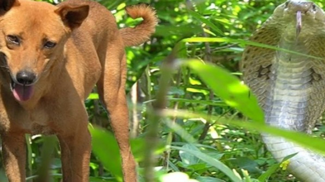
POLYGON ((226 104, 240 110, 254 121, 263 123, 264 115, 258 101, 249 88, 228 71, 198 60, 189 60, 188 65, 226 104))

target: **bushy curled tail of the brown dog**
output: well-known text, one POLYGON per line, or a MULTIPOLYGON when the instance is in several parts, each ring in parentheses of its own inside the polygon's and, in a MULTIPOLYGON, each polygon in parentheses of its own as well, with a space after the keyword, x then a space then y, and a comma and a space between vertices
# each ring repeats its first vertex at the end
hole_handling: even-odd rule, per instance
POLYGON ((126 12, 131 18, 143 18, 143 21, 134 28, 122 28, 120 33, 126 47, 140 45, 154 33, 158 22, 156 11, 148 4, 137 4, 126 7, 126 12))

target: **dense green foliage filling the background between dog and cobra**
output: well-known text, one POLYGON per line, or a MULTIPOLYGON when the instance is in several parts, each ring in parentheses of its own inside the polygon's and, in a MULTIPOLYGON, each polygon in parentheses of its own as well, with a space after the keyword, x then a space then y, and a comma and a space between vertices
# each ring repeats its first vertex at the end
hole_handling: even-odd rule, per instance
MULTIPOLYGON (((49 0, 49 2, 52 2, 49 0)), ((276 47, 247 41, 283 0, 101 0, 116 17, 118 26, 134 26, 124 7, 138 2, 155 7, 160 20, 152 39, 126 48, 130 123, 138 121, 131 149, 138 162, 139 182, 144 182, 144 151, 152 104, 159 87, 161 66, 176 62, 166 110, 155 122, 159 144, 155 176, 159 182, 297 182, 285 169, 288 156, 275 162, 262 144, 259 132, 282 136, 320 152, 324 141, 306 134, 265 126, 255 96, 240 81, 238 63, 245 45, 276 47), (171 60, 171 57, 175 58, 171 60), (182 65, 182 66, 179 66, 182 65), (179 67, 178 67, 179 66, 179 67), (132 86, 136 96, 131 96, 132 86), (175 111, 176 110, 176 111, 175 111), (132 111, 135 114, 132 114, 132 111)), ((321 6, 321 0, 317 1, 321 6)), ((322 7, 322 6, 321 6, 322 7)), ((103 17, 105 18, 105 17, 103 17)), ((300 53, 297 53, 300 54, 300 53)), ((91 182, 121 182, 121 159, 94 91, 85 102, 89 114, 93 153, 91 182), (94 127, 93 127, 94 126, 94 127)), ((132 131, 132 130, 131 130, 132 131)), ((314 135, 324 137, 324 128, 314 135)), ((41 165, 41 135, 26 136, 27 179, 34 179, 41 165)), ((61 180, 60 150, 54 145, 51 174, 61 180)), ((3 168, 0 181, 5 181, 3 168)))

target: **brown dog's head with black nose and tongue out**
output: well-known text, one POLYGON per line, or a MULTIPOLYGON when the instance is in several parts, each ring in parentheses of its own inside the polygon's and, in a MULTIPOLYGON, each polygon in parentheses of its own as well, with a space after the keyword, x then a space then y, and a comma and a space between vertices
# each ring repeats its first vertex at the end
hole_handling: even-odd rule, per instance
POLYGON ((29 100, 40 77, 63 61, 66 40, 88 11, 88 5, 0 0, 0 66, 6 74, 1 84, 10 85, 18 101, 29 100))

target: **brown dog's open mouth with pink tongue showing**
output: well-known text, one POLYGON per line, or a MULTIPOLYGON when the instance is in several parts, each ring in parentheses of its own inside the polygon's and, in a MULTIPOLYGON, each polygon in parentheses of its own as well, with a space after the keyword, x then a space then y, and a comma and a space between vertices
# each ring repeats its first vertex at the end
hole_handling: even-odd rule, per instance
POLYGON ((23 85, 15 82, 12 77, 10 78, 11 78, 10 88, 14 94, 15 99, 17 99, 18 101, 29 100, 33 95, 34 85, 33 84, 23 85))

